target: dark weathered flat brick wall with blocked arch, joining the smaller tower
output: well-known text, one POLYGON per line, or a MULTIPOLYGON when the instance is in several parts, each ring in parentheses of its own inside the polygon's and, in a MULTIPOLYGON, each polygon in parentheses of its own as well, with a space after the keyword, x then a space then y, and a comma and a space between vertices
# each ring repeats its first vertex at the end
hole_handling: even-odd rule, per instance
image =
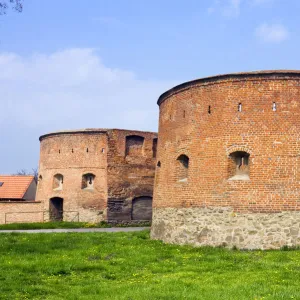
POLYGON ((108 220, 151 221, 157 134, 111 130, 108 147, 108 220))

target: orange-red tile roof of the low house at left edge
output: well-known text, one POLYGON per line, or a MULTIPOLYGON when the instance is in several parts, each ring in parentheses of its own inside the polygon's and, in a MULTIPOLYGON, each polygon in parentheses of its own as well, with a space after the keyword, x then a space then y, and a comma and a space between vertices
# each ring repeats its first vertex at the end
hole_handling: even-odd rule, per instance
POLYGON ((0 182, 3 182, 0 186, 0 199, 22 199, 32 180, 33 176, 0 175, 0 182))

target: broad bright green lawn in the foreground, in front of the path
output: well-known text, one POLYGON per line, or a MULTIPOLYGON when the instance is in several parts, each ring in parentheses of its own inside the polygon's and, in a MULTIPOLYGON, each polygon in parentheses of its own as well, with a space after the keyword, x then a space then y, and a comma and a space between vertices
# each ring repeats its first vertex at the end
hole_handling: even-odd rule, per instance
POLYGON ((0 299, 300 299, 297 250, 165 245, 148 231, 0 239, 0 299))

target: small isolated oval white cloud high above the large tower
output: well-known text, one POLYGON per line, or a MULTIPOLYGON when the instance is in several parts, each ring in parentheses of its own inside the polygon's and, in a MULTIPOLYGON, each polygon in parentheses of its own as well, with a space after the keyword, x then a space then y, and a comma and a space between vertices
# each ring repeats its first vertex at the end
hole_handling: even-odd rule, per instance
POLYGON ((280 43, 289 38, 288 29, 281 24, 264 23, 256 28, 256 36, 264 42, 280 43))

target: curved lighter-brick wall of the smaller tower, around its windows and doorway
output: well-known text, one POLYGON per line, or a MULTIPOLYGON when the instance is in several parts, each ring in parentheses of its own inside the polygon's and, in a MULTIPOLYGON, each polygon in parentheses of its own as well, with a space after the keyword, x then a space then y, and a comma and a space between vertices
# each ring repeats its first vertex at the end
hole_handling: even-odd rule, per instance
POLYGON ((90 214, 106 209, 107 202, 106 132, 69 132, 41 139, 37 199, 49 210, 49 199, 64 199, 64 215, 69 221, 89 220, 90 214), (87 150, 88 149, 88 150, 87 150), (103 150, 102 150, 103 149, 103 150), (62 190, 53 189, 55 174, 62 174, 62 190), (95 188, 82 189, 82 176, 94 174, 95 188), (79 218, 78 218, 79 214, 79 218))

